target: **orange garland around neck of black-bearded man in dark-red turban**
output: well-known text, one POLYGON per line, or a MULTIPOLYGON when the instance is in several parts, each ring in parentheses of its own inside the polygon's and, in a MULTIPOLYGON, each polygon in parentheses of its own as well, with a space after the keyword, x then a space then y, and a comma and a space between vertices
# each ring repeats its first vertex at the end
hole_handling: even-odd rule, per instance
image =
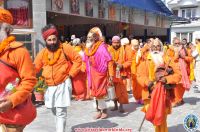
POLYGON ((61 52, 62 52, 62 45, 61 44, 60 44, 59 49, 56 52, 53 52, 53 56, 51 56, 51 59, 49 57, 48 52, 45 52, 44 53, 45 62, 48 65, 52 66, 53 64, 55 64, 58 61, 58 59, 59 59, 59 57, 61 55, 61 52))

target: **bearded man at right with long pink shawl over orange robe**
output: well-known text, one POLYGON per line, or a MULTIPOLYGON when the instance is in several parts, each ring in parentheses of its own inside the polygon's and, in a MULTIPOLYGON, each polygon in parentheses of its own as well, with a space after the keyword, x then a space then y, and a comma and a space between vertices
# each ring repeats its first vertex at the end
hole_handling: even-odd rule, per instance
POLYGON ((190 79, 187 71, 187 62, 192 61, 191 53, 188 53, 185 47, 181 44, 179 38, 174 38, 173 45, 171 45, 167 51, 167 55, 173 58, 179 63, 179 68, 181 70, 182 79, 174 89, 175 99, 173 102, 173 107, 182 105, 183 95, 185 90, 190 89, 190 79))

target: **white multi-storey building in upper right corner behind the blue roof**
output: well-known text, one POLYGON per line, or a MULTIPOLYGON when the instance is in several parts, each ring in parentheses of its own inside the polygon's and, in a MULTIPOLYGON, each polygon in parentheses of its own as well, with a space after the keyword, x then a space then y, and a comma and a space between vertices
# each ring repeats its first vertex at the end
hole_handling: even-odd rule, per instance
POLYGON ((194 43, 196 35, 200 34, 200 0, 168 0, 167 4, 174 15, 190 19, 187 24, 172 23, 171 40, 179 37, 194 43))

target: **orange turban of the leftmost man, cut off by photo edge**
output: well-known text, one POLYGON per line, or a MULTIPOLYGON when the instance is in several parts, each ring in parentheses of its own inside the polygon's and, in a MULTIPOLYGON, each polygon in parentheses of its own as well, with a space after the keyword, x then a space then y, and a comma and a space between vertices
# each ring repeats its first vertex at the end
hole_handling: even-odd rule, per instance
POLYGON ((8 10, 0 8, 0 22, 12 24, 13 23, 12 14, 8 10))

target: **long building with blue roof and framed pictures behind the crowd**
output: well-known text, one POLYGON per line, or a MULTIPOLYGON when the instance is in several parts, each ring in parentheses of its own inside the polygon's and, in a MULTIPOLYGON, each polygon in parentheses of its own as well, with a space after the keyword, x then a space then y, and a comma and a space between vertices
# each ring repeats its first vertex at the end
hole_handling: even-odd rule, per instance
POLYGON ((3 0, 14 16, 14 32, 32 57, 45 46, 41 28, 53 23, 59 36, 87 35, 93 26, 103 34, 168 40, 171 12, 161 0, 3 0), (148 5, 148 6, 147 6, 148 5))

